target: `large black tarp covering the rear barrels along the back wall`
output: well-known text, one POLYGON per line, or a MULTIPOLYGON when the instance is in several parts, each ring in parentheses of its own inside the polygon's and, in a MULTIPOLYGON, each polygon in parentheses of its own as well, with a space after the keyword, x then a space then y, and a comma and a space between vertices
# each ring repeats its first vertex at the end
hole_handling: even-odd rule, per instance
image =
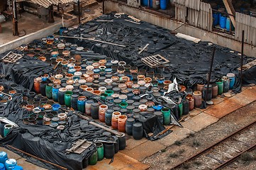
MULTIPOLYGON (((213 52, 211 43, 191 42, 177 38, 165 28, 143 21, 140 24, 130 23, 125 19, 131 20, 128 15, 121 15, 121 18, 116 18, 115 13, 106 14, 85 23, 80 28, 70 30, 67 36, 78 37, 82 35, 84 38, 96 38, 97 40, 126 45, 126 47, 89 40, 80 41, 72 38, 67 38, 67 41, 75 42, 102 55, 107 55, 116 60, 124 60, 128 64, 144 69, 150 68, 140 61, 142 57, 160 54, 166 57, 170 63, 163 72, 160 69, 155 69, 155 72, 162 72, 165 79, 173 80, 174 77, 177 77, 179 84, 184 84, 190 88, 198 83, 206 83, 206 74, 209 72, 211 54, 213 52), (138 52, 146 44, 149 44, 147 49, 139 55, 138 52)), ((233 52, 227 47, 214 46, 216 46, 216 52, 211 81, 217 81, 229 72, 233 72, 238 78, 237 68, 240 67, 240 55, 238 52, 233 52)), ((255 60, 255 58, 244 57, 243 63, 245 64, 252 60, 255 60)), ((250 72, 250 70, 247 72, 250 72)), ((236 80, 238 81, 238 79, 236 80)), ((250 82, 256 83, 255 79, 250 80, 250 82)), ((239 81, 235 84, 234 89, 236 92, 240 90, 239 81)))

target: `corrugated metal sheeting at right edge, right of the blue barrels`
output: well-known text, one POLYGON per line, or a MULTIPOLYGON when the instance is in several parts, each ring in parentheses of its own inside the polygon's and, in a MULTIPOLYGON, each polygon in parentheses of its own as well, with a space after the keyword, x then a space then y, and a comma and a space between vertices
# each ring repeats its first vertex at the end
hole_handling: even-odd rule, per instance
POLYGON ((245 30, 245 42, 256 45, 256 18, 243 13, 235 13, 235 40, 242 41, 245 30))

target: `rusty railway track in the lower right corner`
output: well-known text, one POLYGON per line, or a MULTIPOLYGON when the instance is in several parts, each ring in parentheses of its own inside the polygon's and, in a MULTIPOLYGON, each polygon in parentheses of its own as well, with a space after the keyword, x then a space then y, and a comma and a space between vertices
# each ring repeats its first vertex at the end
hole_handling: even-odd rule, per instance
POLYGON ((255 147, 256 121, 194 154, 172 169, 221 169, 255 147))

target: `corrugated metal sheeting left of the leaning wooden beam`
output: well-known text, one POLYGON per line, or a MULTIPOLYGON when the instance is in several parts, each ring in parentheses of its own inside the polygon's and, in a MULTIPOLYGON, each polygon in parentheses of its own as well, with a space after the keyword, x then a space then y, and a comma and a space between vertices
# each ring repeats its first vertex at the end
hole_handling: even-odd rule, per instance
POLYGON ((213 15, 210 4, 200 0, 174 0, 174 4, 177 21, 189 23, 204 30, 212 30, 213 15))

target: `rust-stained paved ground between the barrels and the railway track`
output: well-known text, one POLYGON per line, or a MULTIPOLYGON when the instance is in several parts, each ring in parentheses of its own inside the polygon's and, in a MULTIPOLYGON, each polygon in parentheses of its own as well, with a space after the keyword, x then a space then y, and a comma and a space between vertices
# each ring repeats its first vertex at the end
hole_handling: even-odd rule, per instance
MULTIPOLYGON (((224 134, 230 134, 230 131, 233 129, 241 127, 241 125, 238 125, 239 123, 236 124, 234 120, 239 120, 239 116, 241 116, 242 113, 246 112, 249 114, 248 112, 250 112, 250 115, 246 115, 247 117, 245 117, 244 120, 240 120, 240 123, 244 124, 247 122, 248 118, 251 118, 253 115, 255 115, 254 111, 256 110, 256 104, 253 104, 254 101, 256 101, 256 86, 243 87, 243 91, 240 94, 236 94, 230 98, 218 96, 217 98, 213 99, 213 106, 208 106, 206 109, 195 108, 193 111, 191 111, 189 116, 184 120, 184 122, 182 122, 184 128, 175 126, 172 128, 172 133, 157 141, 150 141, 145 138, 142 140, 133 140, 133 137, 128 137, 128 140, 126 141, 126 149, 119 151, 118 154, 115 155, 112 164, 108 164, 111 159, 104 159, 94 166, 88 166, 87 169, 160 169, 162 164, 157 166, 157 163, 153 164, 152 162, 154 160, 166 159, 166 155, 163 153, 164 151, 168 149, 173 151, 173 146, 176 147, 176 149, 189 150, 189 148, 186 146, 177 146, 177 143, 175 142, 184 140, 183 144, 189 145, 189 142, 186 142, 187 137, 200 133, 203 133, 203 138, 205 138, 204 136, 206 134, 210 135, 211 129, 213 130, 210 125, 217 126, 220 124, 218 125, 218 127, 220 127, 222 123, 223 128, 218 128, 218 130, 220 132, 223 131, 224 134), (235 117, 233 116, 234 118, 232 119, 227 118, 227 115, 230 113, 232 113, 235 117), (228 120, 235 125, 235 128, 224 128, 224 125, 226 125, 228 120), (204 132, 204 130, 206 132, 204 132)), ((252 120, 256 118, 255 116, 253 117, 252 120)), ((216 137, 215 140, 218 140, 219 138, 220 136, 216 137)), ((211 140, 210 143, 211 142, 213 142, 213 140, 211 140)), ((207 140, 205 143, 206 145, 210 145, 207 140)), ((0 150, 2 149, 3 148, 0 148, 0 150)), ((21 158, 17 154, 14 154, 6 149, 3 150, 8 152, 11 157, 18 159, 18 164, 26 167, 26 170, 42 169, 38 166, 26 162, 26 159, 21 158)), ((192 149, 189 154, 185 155, 188 157, 191 155, 191 152, 198 151, 198 148, 194 150, 192 149)), ((183 159, 185 159, 186 156, 183 156, 183 159)), ((176 163, 177 162, 175 162, 175 164, 176 163)), ((171 166, 168 165, 167 167, 170 168, 171 166)))

